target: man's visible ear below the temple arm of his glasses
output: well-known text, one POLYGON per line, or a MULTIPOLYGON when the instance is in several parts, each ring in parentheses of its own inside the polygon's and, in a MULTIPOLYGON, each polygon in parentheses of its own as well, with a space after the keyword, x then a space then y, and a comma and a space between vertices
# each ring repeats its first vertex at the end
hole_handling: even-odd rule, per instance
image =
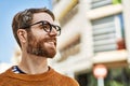
POLYGON ((27 41, 27 31, 24 29, 18 29, 17 37, 18 37, 21 42, 25 43, 27 41))

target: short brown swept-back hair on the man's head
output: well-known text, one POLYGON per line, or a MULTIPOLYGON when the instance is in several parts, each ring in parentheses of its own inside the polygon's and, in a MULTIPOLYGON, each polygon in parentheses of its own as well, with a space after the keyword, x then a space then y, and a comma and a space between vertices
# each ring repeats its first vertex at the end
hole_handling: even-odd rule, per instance
POLYGON ((26 9, 25 11, 18 12, 12 22, 12 30, 13 30, 13 34, 14 38, 16 39, 16 42, 18 43, 20 47, 21 47, 21 43, 20 43, 20 39, 17 37, 17 30, 18 29, 24 29, 23 27, 29 26, 32 22, 32 15, 35 13, 48 13, 52 19, 54 20, 54 14, 47 8, 41 8, 41 9, 26 9))

